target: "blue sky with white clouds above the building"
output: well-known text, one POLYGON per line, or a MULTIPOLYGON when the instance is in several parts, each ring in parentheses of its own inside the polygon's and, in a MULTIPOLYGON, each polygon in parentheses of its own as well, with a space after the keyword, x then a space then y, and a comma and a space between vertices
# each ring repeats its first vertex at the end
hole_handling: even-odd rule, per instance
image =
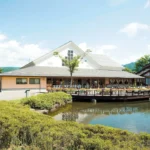
POLYGON ((121 64, 150 54, 150 0, 0 0, 0 66, 73 41, 121 64))

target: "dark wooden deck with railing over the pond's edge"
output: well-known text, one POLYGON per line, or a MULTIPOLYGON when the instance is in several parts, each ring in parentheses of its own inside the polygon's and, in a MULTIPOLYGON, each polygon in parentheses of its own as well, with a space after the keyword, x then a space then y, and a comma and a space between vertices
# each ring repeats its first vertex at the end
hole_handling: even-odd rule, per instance
POLYGON ((150 100, 150 91, 76 91, 72 93, 73 101, 92 101, 97 102, 112 102, 112 101, 138 101, 150 100))

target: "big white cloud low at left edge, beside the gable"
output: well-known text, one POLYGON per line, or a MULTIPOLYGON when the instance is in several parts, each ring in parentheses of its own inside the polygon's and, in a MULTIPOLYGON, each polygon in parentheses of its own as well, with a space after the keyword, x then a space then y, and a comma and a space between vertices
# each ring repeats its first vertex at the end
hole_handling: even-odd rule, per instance
POLYGON ((38 44, 21 44, 16 40, 0 41, 0 66, 23 66, 47 53, 38 44))

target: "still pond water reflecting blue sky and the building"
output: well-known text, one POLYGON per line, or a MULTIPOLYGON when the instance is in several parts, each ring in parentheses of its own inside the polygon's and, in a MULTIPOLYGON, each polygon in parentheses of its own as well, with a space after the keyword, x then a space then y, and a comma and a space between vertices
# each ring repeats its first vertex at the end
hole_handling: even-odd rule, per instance
POLYGON ((150 102, 77 103, 54 116, 84 124, 101 124, 131 132, 150 133, 150 102))

